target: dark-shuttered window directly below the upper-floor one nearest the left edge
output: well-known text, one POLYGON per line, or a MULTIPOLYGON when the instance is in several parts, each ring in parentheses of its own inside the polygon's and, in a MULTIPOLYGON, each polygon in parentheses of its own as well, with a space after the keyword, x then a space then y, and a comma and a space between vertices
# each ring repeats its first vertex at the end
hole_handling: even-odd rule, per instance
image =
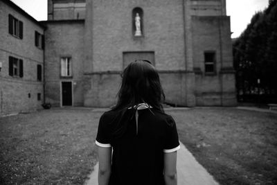
POLYGON ((23 77, 23 60, 9 57, 9 75, 14 77, 23 77))

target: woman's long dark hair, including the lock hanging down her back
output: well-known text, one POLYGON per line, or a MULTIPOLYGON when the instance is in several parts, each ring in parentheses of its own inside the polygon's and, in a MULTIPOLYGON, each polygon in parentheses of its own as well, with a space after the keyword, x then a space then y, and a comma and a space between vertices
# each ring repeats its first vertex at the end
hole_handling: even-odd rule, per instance
POLYGON ((123 79, 118 91, 118 101, 111 109, 118 112, 113 121, 116 124, 114 138, 119 138, 125 133, 129 121, 136 113, 136 105, 147 103, 153 109, 163 112, 162 103, 165 100, 159 74, 148 60, 131 62, 121 76, 123 79))

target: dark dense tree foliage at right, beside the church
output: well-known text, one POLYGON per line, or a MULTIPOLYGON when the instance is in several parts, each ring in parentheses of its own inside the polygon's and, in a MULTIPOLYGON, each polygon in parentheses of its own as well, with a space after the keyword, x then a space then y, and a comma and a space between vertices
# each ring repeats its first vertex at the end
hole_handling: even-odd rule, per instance
POLYGON ((239 98, 256 94, 276 101, 277 0, 270 0, 264 11, 253 15, 233 42, 233 57, 239 98))

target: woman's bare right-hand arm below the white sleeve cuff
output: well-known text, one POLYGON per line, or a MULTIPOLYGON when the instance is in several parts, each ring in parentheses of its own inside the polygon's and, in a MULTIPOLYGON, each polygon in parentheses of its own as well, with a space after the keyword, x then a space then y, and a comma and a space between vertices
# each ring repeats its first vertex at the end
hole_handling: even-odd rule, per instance
POLYGON ((166 185, 177 185, 177 170, 176 170, 177 151, 164 153, 163 160, 164 160, 163 175, 166 181, 166 185))

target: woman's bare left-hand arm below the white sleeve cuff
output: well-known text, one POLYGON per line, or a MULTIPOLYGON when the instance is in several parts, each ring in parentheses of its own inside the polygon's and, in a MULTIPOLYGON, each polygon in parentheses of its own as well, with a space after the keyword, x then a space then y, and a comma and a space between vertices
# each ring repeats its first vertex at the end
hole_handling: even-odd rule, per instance
POLYGON ((111 147, 105 148, 98 146, 98 184, 108 185, 109 176, 111 175, 111 147))

